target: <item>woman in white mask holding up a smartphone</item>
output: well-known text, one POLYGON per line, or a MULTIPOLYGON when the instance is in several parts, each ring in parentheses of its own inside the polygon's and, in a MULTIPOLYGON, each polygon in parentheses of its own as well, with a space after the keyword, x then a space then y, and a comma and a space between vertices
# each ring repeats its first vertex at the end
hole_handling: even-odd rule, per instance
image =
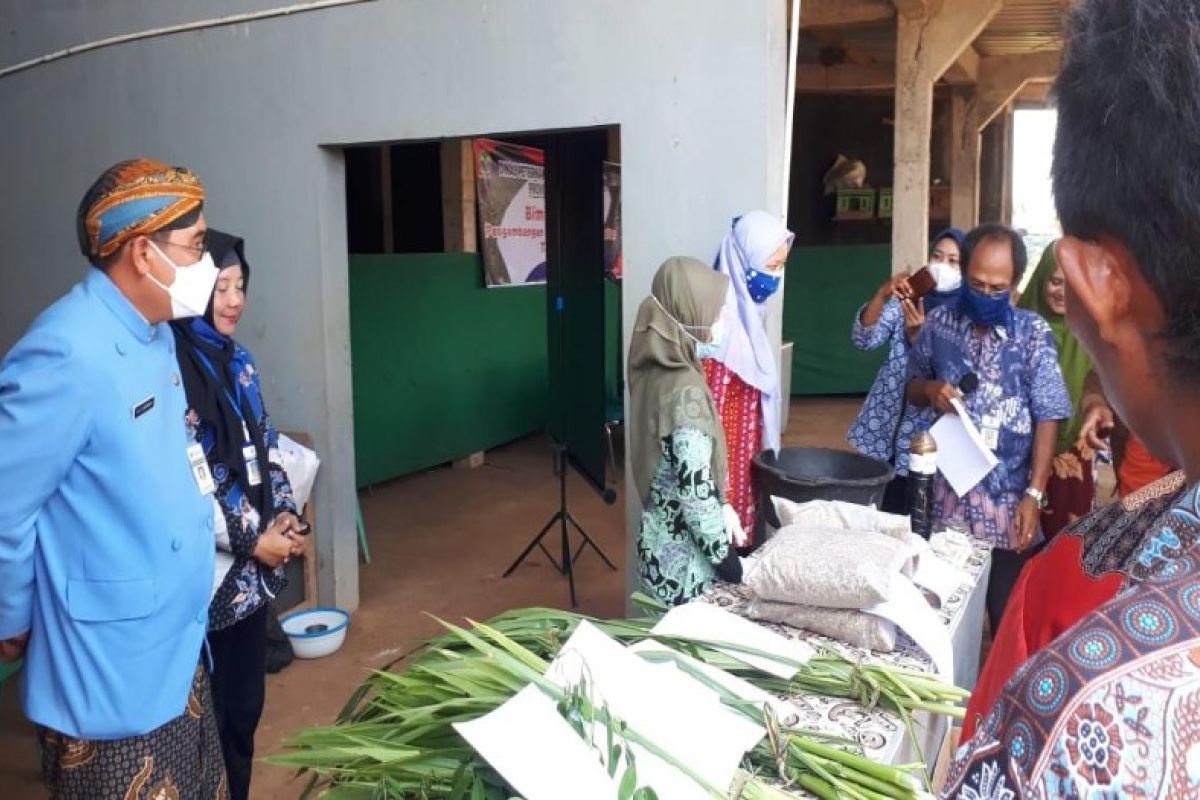
POLYGON ((958 297, 962 283, 959 257, 965 240, 958 228, 938 234, 929 248, 928 271, 922 270, 913 282, 910 277, 918 276, 889 277, 854 314, 851 332, 854 347, 876 350, 887 345, 888 356, 846 439, 864 456, 895 467, 896 476, 884 492, 882 506, 890 513, 908 513, 908 443, 932 422, 929 409, 905 402, 908 348, 920 333, 925 314, 958 297), (913 285, 930 282, 931 287, 913 285))

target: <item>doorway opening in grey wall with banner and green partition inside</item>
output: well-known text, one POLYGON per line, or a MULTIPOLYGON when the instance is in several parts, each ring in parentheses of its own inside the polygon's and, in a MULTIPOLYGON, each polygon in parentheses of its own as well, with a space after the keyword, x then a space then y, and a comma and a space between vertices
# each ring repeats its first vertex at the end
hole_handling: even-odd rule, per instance
MULTIPOLYGON (((623 463, 620 284, 606 270, 604 197, 619 132, 343 152, 355 467, 373 558, 362 602, 394 604, 410 591, 400 577, 466 591, 458 615, 566 604, 548 560, 500 573, 558 505, 550 440, 571 457, 572 513, 618 566, 624 553, 624 516, 601 494, 620 486, 623 463), (544 266, 517 269, 538 252, 523 240, 539 227, 544 266), (497 258, 516 279, 497 278, 497 258)), ((589 553, 577 578, 581 606, 620 613, 619 572, 589 553)))

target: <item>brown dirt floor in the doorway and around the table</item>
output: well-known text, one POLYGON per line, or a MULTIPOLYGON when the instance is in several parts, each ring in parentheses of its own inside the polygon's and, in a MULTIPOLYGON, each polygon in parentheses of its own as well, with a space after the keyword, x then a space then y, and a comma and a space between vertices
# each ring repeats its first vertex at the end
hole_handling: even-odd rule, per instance
MULTIPOLYGON (((792 404, 786 444, 844 447, 860 399, 804 399, 792 404)), ((530 557, 510 578, 500 573, 557 507, 551 453, 541 438, 491 451, 478 470, 437 469, 362 494, 373 561, 360 572, 361 604, 342 650, 296 661, 268 679, 258 729, 260 754, 278 752, 296 729, 329 722, 367 672, 437 631, 422 612, 444 619, 486 619, 526 606, 566 607, 566 583, 544 557, 530 557)), ((624 505, 606 506, 582 481, 570 483, 572 513, 622 571, 594 553, 577 566, 580 609, 624 613, 624 505)), ((318 531, 319 535, 319 531, 318 531)), ((260 765, 253 798, 295 798, 290 772, 260 765)), ((37 747, 17 691, 0 698, 0 796, 44 796, 37 747)))

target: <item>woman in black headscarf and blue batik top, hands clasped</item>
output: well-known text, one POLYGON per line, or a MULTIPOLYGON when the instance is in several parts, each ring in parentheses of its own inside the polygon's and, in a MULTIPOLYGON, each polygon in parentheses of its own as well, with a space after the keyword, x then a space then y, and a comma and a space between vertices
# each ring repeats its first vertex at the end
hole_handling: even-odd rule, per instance
POLYGON ((204 447, 224 523, 209 607, 212 708, 229 798, 245 800, 266 693, 266 601, 284 587, 283 565, 304 552, 304 537, 258 368, 233 338, 250 287, 245 243, 210 228, 208 248, 221 270, 216 288, 203 317, 176 320, 172 331, 187 425, 204 447))

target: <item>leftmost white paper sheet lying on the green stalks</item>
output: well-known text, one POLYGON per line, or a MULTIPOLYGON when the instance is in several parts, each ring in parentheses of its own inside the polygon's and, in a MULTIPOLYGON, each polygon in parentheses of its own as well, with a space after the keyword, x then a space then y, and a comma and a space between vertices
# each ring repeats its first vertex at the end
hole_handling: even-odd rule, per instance
POLYGON ((599 753, 536 686, 526 686, 486 716, 455 724, 455 730, 526 800, 617 796, 617 782, 599 753))

